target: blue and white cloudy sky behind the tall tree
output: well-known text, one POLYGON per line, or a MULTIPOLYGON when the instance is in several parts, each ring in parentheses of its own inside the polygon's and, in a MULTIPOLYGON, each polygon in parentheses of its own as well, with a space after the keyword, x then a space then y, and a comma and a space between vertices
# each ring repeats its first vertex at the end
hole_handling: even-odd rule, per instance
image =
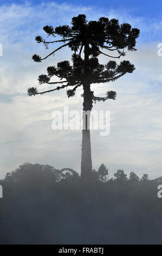
MULTIPOLYGON (((28 87, 42 90, 38 75, 46 74, 47 66, 70 60, 69 48, 64 48, 44 62, 31 60, 34 53, 45 56, 50 50, 37 44, 36 35, 46 38, 43 27, 70 24, 73 16, 86 14, 88 20, 101 16, 128 22, 140 29, 136 52, 127 52, 121 60, 135 65, 133 74, 119 80, 93 86, 96 96, 115 90, 116 100, 98 102, 95 110, 111 112, 108 136, 91 132, 93 168, 103 162, 109 175, 124 169, 129 175, 150 178, 162 175, 162 56, 158 44, 162 42, 160 1, 0 1, 0 179, 25 162, 50 164, 55 168, 73 168, 80 173, 81 131, 51 128, 54 110, 82 109, 82 89, 75 97, 67 98, 66 91, 47 95, 27 96, 28 87)), ((100 57, 107 63, 106 56, 100 57)))

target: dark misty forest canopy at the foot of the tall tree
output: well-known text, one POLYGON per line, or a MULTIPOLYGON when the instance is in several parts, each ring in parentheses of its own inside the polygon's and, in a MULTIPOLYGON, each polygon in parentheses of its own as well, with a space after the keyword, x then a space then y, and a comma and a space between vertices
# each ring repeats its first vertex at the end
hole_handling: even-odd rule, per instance
POLYGON ((161 178, 104 175, 101 164, 85 186, 69 168, 26 163, 8 173, 0 181, 0 243, 161 244, 161 178))

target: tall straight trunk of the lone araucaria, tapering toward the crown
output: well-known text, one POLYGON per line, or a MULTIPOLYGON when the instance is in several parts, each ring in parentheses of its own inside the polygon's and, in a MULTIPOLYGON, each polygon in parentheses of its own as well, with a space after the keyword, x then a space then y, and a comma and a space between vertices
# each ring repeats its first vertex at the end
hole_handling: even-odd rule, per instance
POLYGON ((89 44, 85 44, 85 82, 83 83, 83 129, 82 129, 82 156, 81 178, 88 180, 92 173, 92 157, 90 147, 90 111, 92 109, 92 93, 89 83, 89 44))

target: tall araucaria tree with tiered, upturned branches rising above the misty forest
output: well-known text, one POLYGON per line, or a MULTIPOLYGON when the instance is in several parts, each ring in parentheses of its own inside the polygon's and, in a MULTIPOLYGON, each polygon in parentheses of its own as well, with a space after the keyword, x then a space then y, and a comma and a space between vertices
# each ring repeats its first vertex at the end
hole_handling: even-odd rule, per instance
MULTIPOLYGON (((48 66, 47 75, 40 75, 40 84, 47 83, 56 86, 51 90, 38 92, 37 88, 29 88, 28 95, 44 94, 67 89, 67 96, 73 97, 76 89, 83 87, 83 113, 92 110, 93 101, 115 100, 116 92, 108 91, 105 97, 98 97, 90 89, 91 84, 102 84, 115 81, 126 73, 132 73, 134 65, 124 60, 117 64, 109 60, 107 64, 99 63, 98 56, 104 54, 109 58, 120 58, 125 56, 126 51, 135 51, 136 39, 139 36, 139 29, 132 28, 128 23, 119 25, 116 19, 109 20, 107 17, 100 17, 98 21, 87 21, 86 15, 80 14, 72 18, 72 26, 64 25, 54 29, 52 26, 43 28, 48 36, 61 36, 59 40, 46 41, 41 36, 36 36, 38 43, 43 43, 46 48, 49 44, 60 42, 62 45, 52 51, 48 56, 42 58, 37 54, 33 55, 35 62, 55 54, 61 48, 68 46, 73 52, 72 64, 68 60, 57 63, 57 66, 48 66), (116 55, 117 54, 117 55, 116 55), (58 82, 51 82, 51 77, 60 78, 58 82), (60 84, 60 86, 57 86, 60 84)), ((81 177, 87 179, 92 173, 92 158, 90 148, 89 114, 83 114, 82 130, 82 156, 81 156, 81 177)))

